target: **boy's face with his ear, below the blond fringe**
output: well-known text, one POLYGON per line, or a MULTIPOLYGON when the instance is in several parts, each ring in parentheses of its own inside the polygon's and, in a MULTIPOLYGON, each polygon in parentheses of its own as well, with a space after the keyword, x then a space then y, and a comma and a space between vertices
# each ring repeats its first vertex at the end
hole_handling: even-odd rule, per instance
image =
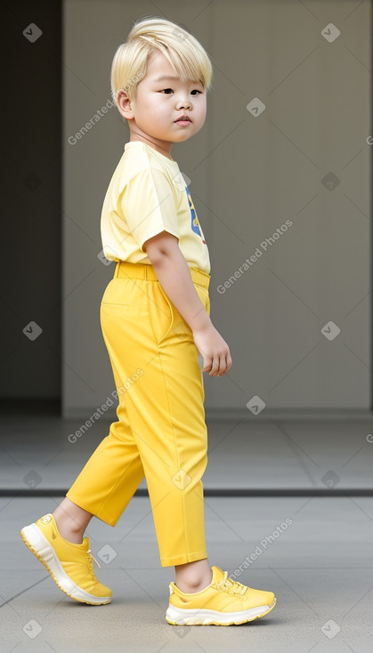
POLYGON ((206 91, 200 82, 176 79, 156 80, 161 76, 175 77, 174 69, 162 52, 151 52, 145 77, 137 85, 136 100, 121 97, 120 113, 128 120, 132 140, 146 140, 171 150, 172 143, 187 141, 205 122, 206 91), (191 122, 178 125, 175 121, 187 115, 191 122))

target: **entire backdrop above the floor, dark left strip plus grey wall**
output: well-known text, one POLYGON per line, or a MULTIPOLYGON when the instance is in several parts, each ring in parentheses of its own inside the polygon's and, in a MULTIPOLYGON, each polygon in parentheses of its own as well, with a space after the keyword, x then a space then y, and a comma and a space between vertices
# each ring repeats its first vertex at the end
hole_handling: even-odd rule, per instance
POLYGON ((212 318, 233 359, 223 378, 204 375, 207 412, 250 416, 255 396, 262 415, 370 410, 369 0, 66 0, 61 18, 42 0, 3 9, 12 126, 1 151, 1 399, 61 399, 62 416, 86 418, 114 390, 100 327, 114 264, 98 258, 100 217, 129 133, 112 108, 76 145, 68 139, 109 100, 114 52, 150 14, 190 29, 214 66, 206 123, 172 152, 191 179, 212 318), (31 44, 22 30, 33 21, 43 36, 31 44), (332 43, 329 23, 340 30, 332 43), (259 101, 255 116, 247 105, 259 101), (34 341, 22 333, 31 320, 43 329, 34 341), (330 321, 340 329, 331 341, 330 321))

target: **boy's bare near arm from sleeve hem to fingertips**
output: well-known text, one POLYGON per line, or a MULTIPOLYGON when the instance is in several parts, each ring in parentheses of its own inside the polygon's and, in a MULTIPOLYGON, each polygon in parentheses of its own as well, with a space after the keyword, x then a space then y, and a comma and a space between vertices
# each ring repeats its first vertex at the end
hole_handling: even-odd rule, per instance
POLYGON ((156 271, 160 285, 191 327, 194 342, 204 359, 203 371, 209 371, 211 376, 223 376, 231 368, 231 353, 199 299, 178 239, 162 231, 146 240, 142 248, 156 271))

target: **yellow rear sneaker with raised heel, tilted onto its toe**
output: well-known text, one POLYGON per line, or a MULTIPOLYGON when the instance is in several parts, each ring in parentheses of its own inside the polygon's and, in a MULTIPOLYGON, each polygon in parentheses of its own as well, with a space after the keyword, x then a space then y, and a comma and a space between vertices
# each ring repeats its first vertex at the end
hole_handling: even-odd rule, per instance
POLYGON ((23 542, 43 562, 62 592, 71 599, 91 605, 101 605, 111 601, 112 592, 98 582, 94 576, 89 539, 82 544, 73 544, 61 536, 53 514, 40 517, 33 524, 20 530, 23 542))

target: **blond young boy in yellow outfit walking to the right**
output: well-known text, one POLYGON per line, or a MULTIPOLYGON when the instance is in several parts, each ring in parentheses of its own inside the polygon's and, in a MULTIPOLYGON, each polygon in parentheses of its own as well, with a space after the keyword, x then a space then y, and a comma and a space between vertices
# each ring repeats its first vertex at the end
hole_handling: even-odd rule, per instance
POLYGON ((63 592, 109 603, 85 528, 93 515, 115 526, 145 476, 161 565, 175 568, 166 610, 172 625, 241 624, 276 604, 272 592, 230 579, 207 559, 198 357, 203 372, 223 376, 231 353, 209 317, 207 243, 171 148, 204 124, 211 79, 207 52, 169 20, 138 21, 115 54, 112 95, 130 140, 102 207, 103 253, 117 265, 102 297, 101 329, 118 422, 53 514, 20 531, 63 592))

